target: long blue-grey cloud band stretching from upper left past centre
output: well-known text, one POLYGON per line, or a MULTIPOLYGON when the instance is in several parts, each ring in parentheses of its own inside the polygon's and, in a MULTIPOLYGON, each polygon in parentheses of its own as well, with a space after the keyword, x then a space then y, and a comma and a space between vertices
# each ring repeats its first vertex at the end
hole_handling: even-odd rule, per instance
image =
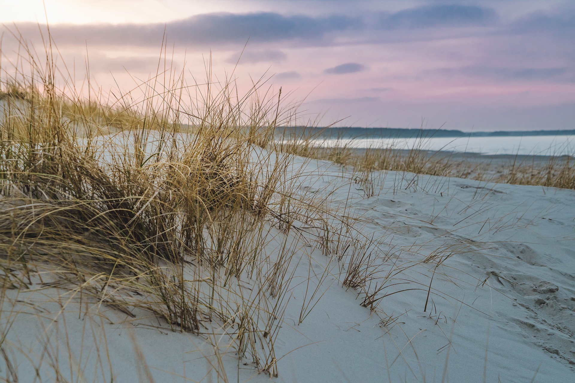
MULTIPOLYGON (((328 33, 361 28, 359 18, 347 16, 283 16, 272 12, 209 13, 167 24, 56 24, 51 32, 59 44, 154 46, 162 41, 164 28, 168 40, 185 44, 245 44, 248 41, 274 42, 305 39, 321 40, 328 33)), ((34 33, 34 23, 18 24, 24 36, 34 33)))

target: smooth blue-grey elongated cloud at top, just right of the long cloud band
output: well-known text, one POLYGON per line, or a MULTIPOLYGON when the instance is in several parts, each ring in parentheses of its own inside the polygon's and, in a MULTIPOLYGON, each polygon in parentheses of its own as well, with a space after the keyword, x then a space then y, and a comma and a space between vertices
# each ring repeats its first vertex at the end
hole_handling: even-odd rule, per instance
POLYGON ((427 5, 379 15, 382 29, 430 28, 438 26, 475 26, 492 24, 497 13, 486 7, 471 5, 427 5))

